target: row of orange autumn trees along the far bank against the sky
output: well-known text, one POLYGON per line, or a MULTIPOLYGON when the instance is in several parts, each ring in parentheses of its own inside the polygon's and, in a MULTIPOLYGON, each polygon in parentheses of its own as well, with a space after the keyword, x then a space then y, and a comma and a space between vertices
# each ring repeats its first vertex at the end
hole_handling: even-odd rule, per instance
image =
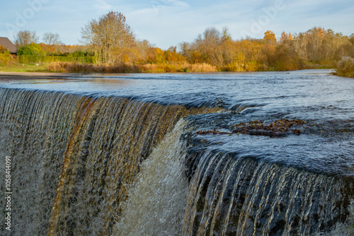
POLYGON ((58 34, 45 33, 41 44, 35 32, 15 37, 19 54, 93 57, 96 64, 208 64, 217 71, 287 71, 333 67, 354 58, 354 34, 314 27, 304 33, 285 33, 277 39, 268 30, 261 39, 234 40, 227 28, 207 28, 193 42, 167 50, 138 40, 122 13, 109 12, 81 29, 83 45, 64 46, 58 34))

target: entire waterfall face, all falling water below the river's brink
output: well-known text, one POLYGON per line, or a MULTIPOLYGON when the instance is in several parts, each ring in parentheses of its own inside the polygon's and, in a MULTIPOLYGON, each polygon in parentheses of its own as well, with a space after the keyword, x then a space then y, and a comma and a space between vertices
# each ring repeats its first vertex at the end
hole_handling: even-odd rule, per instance
POLYGON ((1 235, 354 235, 353 177, 193 139, 219 110, 0 88, 1 235))

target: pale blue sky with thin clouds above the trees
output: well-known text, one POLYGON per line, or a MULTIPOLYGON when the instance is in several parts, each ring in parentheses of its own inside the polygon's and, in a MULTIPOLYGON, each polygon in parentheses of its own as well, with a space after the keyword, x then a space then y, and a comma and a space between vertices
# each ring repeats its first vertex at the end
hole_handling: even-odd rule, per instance
POLYGON ((161 49, 192 42, 209 27, 227 27, 234 40, 314 26, 354 33, 353 0, 11 0, 1 2, 0 37, 13 40, 19 30, 30 30, 40 40, 44 33, 58 33, 65 45, 76 45, 81 28, 109 11, 126 16, 137 39, 161 49))

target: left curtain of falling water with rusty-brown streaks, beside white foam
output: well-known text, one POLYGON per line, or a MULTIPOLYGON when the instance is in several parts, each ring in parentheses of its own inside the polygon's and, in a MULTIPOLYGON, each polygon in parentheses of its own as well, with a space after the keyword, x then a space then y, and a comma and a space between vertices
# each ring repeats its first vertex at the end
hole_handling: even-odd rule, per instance
POLYGON ((142 160, 181 117, 216 111, 6 88, 0 98, 1 155, 13 158, 11 235, 110 235, 142 160))

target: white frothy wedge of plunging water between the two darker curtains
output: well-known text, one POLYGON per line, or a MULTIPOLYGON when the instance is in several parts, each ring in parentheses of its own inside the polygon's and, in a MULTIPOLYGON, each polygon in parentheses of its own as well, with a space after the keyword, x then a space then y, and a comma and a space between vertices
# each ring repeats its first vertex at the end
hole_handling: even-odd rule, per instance
POLYGON ((126 186, 129 198, 113 235, 181 235, 188 181, 179 139, 185 124, 183 119, 176 124, 142 163, 135 184, 126 186))

